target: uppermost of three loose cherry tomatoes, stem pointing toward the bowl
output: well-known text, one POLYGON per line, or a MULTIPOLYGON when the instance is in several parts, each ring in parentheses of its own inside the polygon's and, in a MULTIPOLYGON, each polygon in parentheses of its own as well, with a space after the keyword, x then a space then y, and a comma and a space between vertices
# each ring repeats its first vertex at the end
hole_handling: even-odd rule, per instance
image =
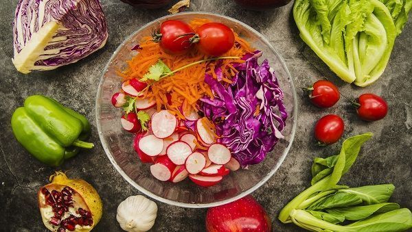
POLYGON ((304 90, 312 90, 309 94, 310 101, 320 108, 332 107, 341 98, 338 88, 326 80, 316 81, 312 87, 304 88, 304 90))

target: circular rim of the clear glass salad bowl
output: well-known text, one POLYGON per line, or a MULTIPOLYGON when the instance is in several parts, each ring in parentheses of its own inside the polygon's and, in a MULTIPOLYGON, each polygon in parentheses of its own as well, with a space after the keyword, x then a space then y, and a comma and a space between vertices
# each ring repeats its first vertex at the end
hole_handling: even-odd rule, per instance
POLYGON ((293 140, 295 139, 295 132, 296 132, 296 128, 297 128, 297 94, 296 94, 296 90, 295 90, 295 84, 293 81, 293 77, 290 75, 290 72, 282 58, 281 55, 279 55, 279 53, 277 52, 277 50, 272 46, 271 42, 269 42, 262 34, 260 34, 259 31, 256 31, 255 29, 253 29, 252 27, 250 27, 249 25, 242 23, 241 21, 238 21, 235 18, 231 18, 229 16, 224 16, 221 14, 214 14, 214 13, 210 13, 210 12, 181 12, 178 13, 179 15, 198 15, 198 14, 203 14, 203 15, 209 15, 209 16, 218 16, 218 17, 222 17, 222 18, 226 18, 229 21, 233 21, 236 23, 239 23, 242 27, 248 29, 249 31, 252 31, 254 34, 257 34, 260 36, 260 39, 262 40, 262 42, 264 42, 268 48, 271 49, 271 51, 273 53, 275 53, 275 55, 279 58, 279 61, 282 63, 282 66, 285 68, 286 71, 286 75, 288 76, 288 78, 290 79, 290 86, 292 88, 292 94, 293 94, 293 123, 292 123, 292 130, 290 133, 290 142, 288 144, 288 146, 286 146, 286 149, 284 149, 284 152, 282 154, 282 157, 280 157, 279 162, 277 162, 275 168, 273 168, 270 172, 268 172, 268 175, 266 175, 266 177, 264 177, 262 180, 260 180, 258 183, 256 183, 252 188, 249 188, 248 190, 238 194, 237 196, 233 196, 232 198, 227 198, 223 201, 216 201, 214 203, 207 203, 207 204, 191 204, 191 203, 179 203, 176 201, 172 201, 166 198, 163 198, 161 196, 157 196, 156 194, 152 194, 152 192, 142 188, 140 185, 138 185, 135 181, 133 181, 133 179, 131 179, 130 177, 128 177, 128 175, 126 175, 126 173, 122 170, 122 168, 120 168, 117 165, 117 162, 115 161, 115 159, 113 158, 113 156, 111 155, 111 152, 108 149, 108 145, 106 144, 104 138, 103 138, 103 133, 102 133, 102 127, 100 126, 100 105, 99 105, 99 99, 100 96, 102 94, 102 85, 104 82, 104 74, 106 73, 106 70, 108 69, 108 67, 111 64, 111 61, 113 60, 113 58, 115 58, 115 56, 117 55, 117 53, 120 51, 120 49, 124 46, 124 44, 126 44, 126 42, 128 40, 130 40, 131 38, 135 37, 137 34, 139 34, 140 31, 144 30, 146 27, 148 27, 149 25, 152 25, 152 23, 156 23, 158 21, 163 21, 167 18, 170 18, 170 16, 175 16, 176 14, 172 14, 172 15, 166 15, 166 16, 162 16, 161 18, 157 18, 153 21, 150 21, 149 23, 146 23, 144 26, 140 27, 140 29, 138 29, 137 31, 133 32, 133 34, 131 34, 130 36, 128 36, 125 40, 123 40, 123 42, 121 44, 119 44, 119 47, 117 47, 117 49, 115 50, 115 52, 113 53, 113 55, 111 55, 110 60, 108 60, 106 66, 104 66, 104 70, 102 73, 102 77, 100 77, 100 81, 99 81, 99 86, 98 86, 98 92, 96 94, 96 99, 95 99, 95 120, 96 120, 96 126, 98 128, 98 134, 99 134, 99 138, 100 138, 100 142, 102 143, 104 152, 106 153, 108 159, 110 160, 110 162, 113 164, 113 166, 115 167, 115 169, 117 170, 117 172, 120 173, 120 175, 122 175, 122 177, 124 179, 126 179, 126 181, 128 181, 128 183, 130 183, 131 185, 133 185, 133 187, 135 187, 137 190, 139 190, 140 192, 142 192, 143 194, 145 194, 146 196, 149 196, 150 198, 153 198, 157 201, 160 201, 162 203, 166 203, 168 205, 175 205, 178 207, 186 207, 186 208, 208 208, 208 207, 216 207, 219 205, 225 205, 227 203, 231 203, 233 201, 236 201, 244 196, 247 196, 249 194, 251 194, 252 192, 254 192, 255 190, 257 190, 258 188, 260 188, 260 186, 262 186, 264 183, 266 183, 266 181, 268 181, 268 179, 270 179, 275 172, 277 171, 277 169, 279 169, 279 167, 282 165, 282 163, 284 162, 284 159, 286 158, 286 155, 288 155, 288 152, 293 144, 293 140))

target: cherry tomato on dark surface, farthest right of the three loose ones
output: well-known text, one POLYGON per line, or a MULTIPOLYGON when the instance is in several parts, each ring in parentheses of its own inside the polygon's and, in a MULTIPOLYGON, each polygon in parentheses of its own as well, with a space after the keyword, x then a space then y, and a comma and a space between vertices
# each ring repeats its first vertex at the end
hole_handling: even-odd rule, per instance
POLYGON ((375 94, 362 94, 355 105, 358 106, 356 112, 359 118, 367 121, 380 120, 388 113, 386 101, 375 94))

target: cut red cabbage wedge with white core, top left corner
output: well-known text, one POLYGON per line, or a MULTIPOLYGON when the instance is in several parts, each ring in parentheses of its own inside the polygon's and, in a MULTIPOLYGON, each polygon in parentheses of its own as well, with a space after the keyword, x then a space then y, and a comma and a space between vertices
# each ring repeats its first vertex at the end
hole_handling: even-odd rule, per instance
POLYGON ((98 0, 20 0, 13 35, 13 64, 21 73, 77 62, 108 36, 98 0))

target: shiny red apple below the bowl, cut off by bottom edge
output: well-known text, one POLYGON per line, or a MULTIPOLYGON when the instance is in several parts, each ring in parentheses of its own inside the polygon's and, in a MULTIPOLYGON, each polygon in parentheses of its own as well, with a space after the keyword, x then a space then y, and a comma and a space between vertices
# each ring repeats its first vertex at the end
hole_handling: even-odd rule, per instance
POLYGON ((248 195, 238 201, 207 210, 206 230, 208 232, 270 232, 272 222, 266 211, 248 195))

